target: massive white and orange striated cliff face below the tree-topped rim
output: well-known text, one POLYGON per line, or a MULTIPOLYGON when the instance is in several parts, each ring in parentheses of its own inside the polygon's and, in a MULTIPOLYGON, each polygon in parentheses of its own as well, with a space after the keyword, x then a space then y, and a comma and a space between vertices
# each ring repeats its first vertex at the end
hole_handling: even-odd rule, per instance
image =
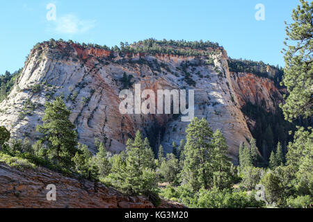
POLYGON ((126 74, 134 76, 133 87, 141 83, 141 89, 195 89, 195 116, 207 119, 214 130, 222 130, 236 162, 239 144, 251 138, 241 106, 265 101, 266 109, 273 110, 281 95, 267 78, 230 74, 224 49, 207 51, 214 64, 202 56, 120 55, 66 42, 56 46, 44 42, 31 51, 13 90, 0 104, 0 125, 13 137, 34 141, 40 137, 35 126, 42 123, 45 102, 62 95, 79 142, 94 153, 95 138, 111 152, 120 152, 136 130, 150 138, 152 147, 161 142, 170 152, 172 142, 179 144, 185 137, 188 122, 171 114, 120 114, 118 94, 126 74))

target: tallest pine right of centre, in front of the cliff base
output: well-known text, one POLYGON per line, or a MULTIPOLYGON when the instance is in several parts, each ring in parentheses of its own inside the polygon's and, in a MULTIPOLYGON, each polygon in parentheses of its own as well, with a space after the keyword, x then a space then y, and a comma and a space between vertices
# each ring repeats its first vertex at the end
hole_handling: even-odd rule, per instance
POLYGON ((211 156, 214 150, 211 144, 213 132, 207 120, 203 118, 199 120, 195 117, 186 128, 186 133, 182 180, 195 191, 201 187, 209 189, 213 178, 211 168, 211 156))

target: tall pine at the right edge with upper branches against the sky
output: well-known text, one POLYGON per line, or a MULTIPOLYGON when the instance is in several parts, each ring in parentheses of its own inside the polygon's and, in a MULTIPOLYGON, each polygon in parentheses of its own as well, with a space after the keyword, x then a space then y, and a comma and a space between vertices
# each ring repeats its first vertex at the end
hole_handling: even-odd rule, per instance
POLYGON ((292 12, 294 23, 287 25, 287 38, 284 42, 287 49, 283 49, 285 68, 282 83, 287 87, 289 96, 281 108, 285 119, 289 121, 300 116, 312 117, 313 114, 313 2, 300 0, 300 3, 301 6, 297 6, 292 12))

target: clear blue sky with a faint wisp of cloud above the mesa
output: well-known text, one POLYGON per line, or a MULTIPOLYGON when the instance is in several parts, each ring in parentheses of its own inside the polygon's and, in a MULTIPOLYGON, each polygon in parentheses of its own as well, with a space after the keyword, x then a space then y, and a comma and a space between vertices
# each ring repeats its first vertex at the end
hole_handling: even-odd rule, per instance
POLYGON ((298 0, 5 1, 0 6, 0 74, 23 67, 32 47, 51 37, 108 46, 149 37, 209 40, 224 46, 232 58, 284 66, 280 53, 284 21, 291 21, 298 4, 298 0), (56 6, 56 20, 47 19, 49 3, 56 6), (264 5, 264 21, 255 19, 257 3, 264 5))

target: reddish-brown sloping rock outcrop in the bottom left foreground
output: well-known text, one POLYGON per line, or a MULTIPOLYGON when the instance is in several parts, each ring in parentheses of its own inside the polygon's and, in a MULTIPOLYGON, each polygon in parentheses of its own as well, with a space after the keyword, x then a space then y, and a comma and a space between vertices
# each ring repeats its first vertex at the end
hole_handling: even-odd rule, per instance
MULTIPOLYGON (((48 194, 48 196, 50 196, 48 194)), ((15 169, 0 162, 0 208, 153 208, 143 196, 125 196, 100 183, 63 176, 48 169, 15 169), (56 186, 56 200, 47 200, 47 185, 56 186)), ((162 200, 158 207, 184 205, 162 200)))

